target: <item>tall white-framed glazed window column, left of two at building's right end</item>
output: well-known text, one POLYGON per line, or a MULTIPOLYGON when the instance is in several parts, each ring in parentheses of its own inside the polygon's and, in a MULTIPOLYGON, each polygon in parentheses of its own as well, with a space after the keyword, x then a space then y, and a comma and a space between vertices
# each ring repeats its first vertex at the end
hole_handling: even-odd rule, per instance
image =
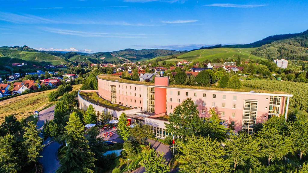
POLYGON ((256 125, 257 117, 257 100, 244 100, 244 112, 242 120, 242 131, 247 132, 248 134, 253 134, 254 126, 256 125))

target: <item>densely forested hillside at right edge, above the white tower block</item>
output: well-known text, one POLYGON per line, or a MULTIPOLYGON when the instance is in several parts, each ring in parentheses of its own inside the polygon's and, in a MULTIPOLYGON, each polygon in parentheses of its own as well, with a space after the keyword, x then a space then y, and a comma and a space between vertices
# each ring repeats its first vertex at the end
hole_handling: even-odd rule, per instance
POLYGON ((253 55, 276 59, 287 60, 308 60, 308 31, 298 37, 288 38, 265 44, 252 51, 253 55))

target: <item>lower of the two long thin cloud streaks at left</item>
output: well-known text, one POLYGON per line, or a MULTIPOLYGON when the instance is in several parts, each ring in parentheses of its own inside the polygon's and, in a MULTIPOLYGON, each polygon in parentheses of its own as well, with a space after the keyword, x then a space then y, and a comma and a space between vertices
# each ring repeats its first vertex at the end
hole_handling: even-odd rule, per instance
POLYGON ((95 38, 147 38, 148 36, 165 36, 165 34, 135 34, 135 33, 103 33, 103 32, 84 32, 76 30, 63 30, 55 28, 44 28, 45 31, 63 35, 75 35, 81 37, 95 38))

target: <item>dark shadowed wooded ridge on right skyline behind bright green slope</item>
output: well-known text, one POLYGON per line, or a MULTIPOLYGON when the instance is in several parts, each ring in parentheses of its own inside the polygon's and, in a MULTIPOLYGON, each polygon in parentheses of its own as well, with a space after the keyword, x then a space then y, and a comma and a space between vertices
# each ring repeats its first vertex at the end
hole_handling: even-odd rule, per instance
POLYGON ((234 45, 225 45, 222 47, 229 47, 229 48, 250 48, 250 47, 260 47, 262 45, 265 44, 269 44, 271 42, 274 41, 278 41, 278 40, 284 40, 284 39, 288 39, 288 38, 294 38, 294 37, 298 37, 301 35, 305 35, 308 33, 308 30, 301 32, 301 33, 296 33, 296 34, 278 34, 278 35, 272 35, 266 38, 263 38, 262 40, 253 42, 253 43, 249 43, 249 44, 234 44, 234 45))

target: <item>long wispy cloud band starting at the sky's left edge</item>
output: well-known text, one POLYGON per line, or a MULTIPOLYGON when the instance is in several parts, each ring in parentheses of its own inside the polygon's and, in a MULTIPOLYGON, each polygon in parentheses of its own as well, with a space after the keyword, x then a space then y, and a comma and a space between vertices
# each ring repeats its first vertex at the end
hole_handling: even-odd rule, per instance
POLYGON ((93 20, 57 20, 48 19, 31 14, 14 14, 0 12, 0 21, 12 22, 17 24, 97 24, 97 25, 119 25, 119 26, 161 26, 162 24, 152 23, 130 23, 126 21, 93 21, 93 20))

